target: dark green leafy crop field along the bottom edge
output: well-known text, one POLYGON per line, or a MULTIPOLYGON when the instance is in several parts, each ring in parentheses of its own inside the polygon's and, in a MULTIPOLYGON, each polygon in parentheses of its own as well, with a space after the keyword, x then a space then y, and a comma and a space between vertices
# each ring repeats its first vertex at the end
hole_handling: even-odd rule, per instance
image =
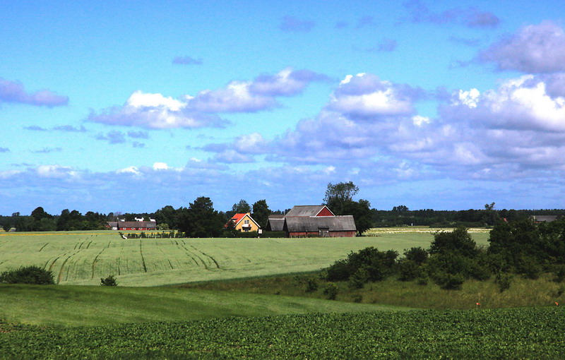
POLYGON ((306 314, 105 327, 0 321, 0 353, 35 359, 563 359, 562 308, 306 314))

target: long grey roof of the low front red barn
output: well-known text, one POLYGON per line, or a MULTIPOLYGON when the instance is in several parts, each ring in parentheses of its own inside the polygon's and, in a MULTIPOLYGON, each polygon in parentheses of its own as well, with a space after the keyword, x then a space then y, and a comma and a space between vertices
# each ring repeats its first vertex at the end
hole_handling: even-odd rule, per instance
POLYGON ((286 232, 318 232, 319 229, 327 229, 330 232, 357 231, 353 215, 285 217, 286 232))

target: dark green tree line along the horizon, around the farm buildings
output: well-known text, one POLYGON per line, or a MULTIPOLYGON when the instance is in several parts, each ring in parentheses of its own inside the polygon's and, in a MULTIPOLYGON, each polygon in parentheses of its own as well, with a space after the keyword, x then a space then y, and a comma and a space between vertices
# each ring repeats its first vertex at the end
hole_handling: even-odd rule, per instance
MULTIPOLYGON (((371 227, 395 226, 429 226, 429 227, 492 227, 500 221, 513 222, 531 215, 565 215, 565 210, 496 210, 494 203, 484 205, 482 209, 469 210, 410 210, 405 205, 398 205, 391 210, 371 208, 368 200, 353 198, 359 187, 349 182, 328 184, 322 203, 327 205, 335 215, 353 215, 357 232, 362 234, 371 227)), ((0 216, 0 226, 6 231, 16 228, 21 232, 42 231, 76 231, 105 229, 106 223, 125 220, 134 221, 143 217, 145 220, 155 219, 157 229, 174 229, 194 237, 220 236, 224 232, 224 224, 236 213, 250 212, 251 216, 265 229, 270 214, 285 214, 289 209, 270 210, 267 200, 261 199, 249 205, 242 199, 234 203, 227 211, 213 208, 210 198, 201 196, 189 203, 187 207, 173 208, 167 205, 155 212, 121 213, 86 212, 65 209, 60 215, 50 215, 42 207, 38 207, 30 215, 0 216)))

